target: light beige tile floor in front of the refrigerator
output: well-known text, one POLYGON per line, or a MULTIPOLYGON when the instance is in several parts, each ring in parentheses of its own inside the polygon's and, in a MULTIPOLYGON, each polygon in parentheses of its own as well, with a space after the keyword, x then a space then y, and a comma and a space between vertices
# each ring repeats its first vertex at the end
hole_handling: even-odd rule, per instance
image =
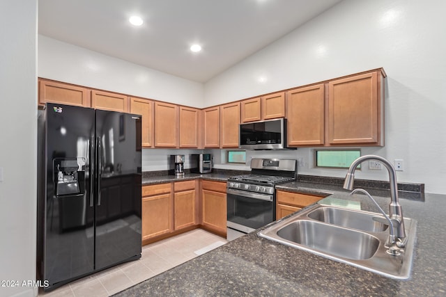
POLYGON ((39 296, 111 296, 134 284, 178 266, 202 252, 226 243, 226 239, 201 229, 192 230, 169 239, 142 247, 142 257, 75 280, 39 296))

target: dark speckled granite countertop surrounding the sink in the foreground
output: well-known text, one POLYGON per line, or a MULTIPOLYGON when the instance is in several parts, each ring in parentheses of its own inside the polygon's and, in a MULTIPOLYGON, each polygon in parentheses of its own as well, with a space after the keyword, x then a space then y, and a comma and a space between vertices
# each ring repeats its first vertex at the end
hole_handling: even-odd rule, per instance
MULTIPOLYGON (((364 195, 348 195, 339 186, 312 188, 289 183, 280 187, 330 194, 318 203, 353 202, 361 209, 378 212, 364 195)), ((374 197, 387 211, 390 198, 374 197)), ((403 215, 417 220, 408 280, 386 278, 252 232, 117 296, 445 296, 446 195, 424 194, 423 200, 401 199, 400 203, 403 215)))

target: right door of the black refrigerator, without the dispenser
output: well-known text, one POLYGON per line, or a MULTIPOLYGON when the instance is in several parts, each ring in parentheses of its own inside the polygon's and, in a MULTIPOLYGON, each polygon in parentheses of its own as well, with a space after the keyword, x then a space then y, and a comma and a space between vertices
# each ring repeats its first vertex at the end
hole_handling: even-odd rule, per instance
POLYGON ((141 257, 141 120, 95 111, 95 269, 141 257))

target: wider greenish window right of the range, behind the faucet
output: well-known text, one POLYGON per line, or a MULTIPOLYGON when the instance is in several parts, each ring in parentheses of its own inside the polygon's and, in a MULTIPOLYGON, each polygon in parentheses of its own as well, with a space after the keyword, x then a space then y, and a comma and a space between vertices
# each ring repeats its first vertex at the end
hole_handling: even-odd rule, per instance
MULTIPOLYGON (((361 156, 359 149, 353 150, 315 150, 316 167, 349 168, 361 156)), ((361 166, 357 166, 360 169, 361 166)))

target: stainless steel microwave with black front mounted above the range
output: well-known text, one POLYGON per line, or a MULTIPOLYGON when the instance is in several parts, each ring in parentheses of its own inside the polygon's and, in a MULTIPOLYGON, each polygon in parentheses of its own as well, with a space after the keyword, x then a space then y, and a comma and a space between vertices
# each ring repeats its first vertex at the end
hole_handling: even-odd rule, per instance
POLYGON ((282 150, 286 147, 286 118, 240 124, 238 145, 245 150, 282 150))

